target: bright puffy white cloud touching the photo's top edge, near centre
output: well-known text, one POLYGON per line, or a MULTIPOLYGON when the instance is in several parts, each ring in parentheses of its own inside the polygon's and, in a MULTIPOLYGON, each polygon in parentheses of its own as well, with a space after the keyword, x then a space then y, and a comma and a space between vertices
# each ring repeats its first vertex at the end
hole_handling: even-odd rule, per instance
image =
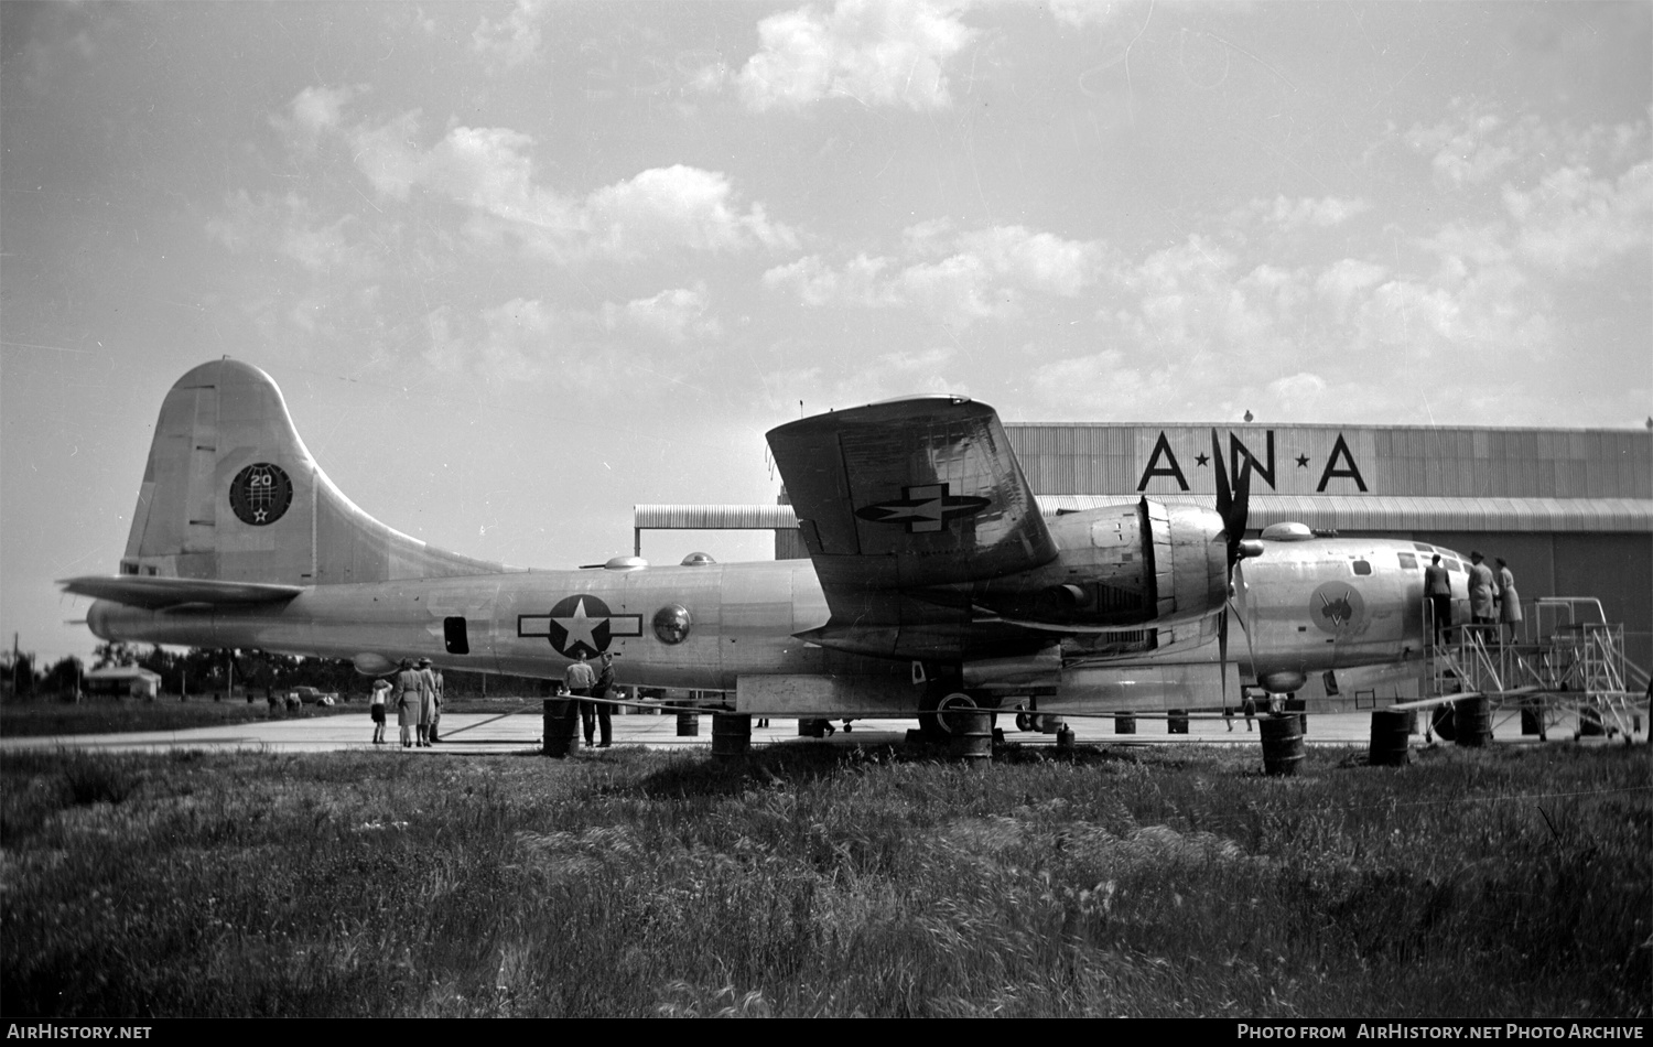
POLYGON ((764 18, 760 48, 734 76, 757 111, 795 109, 823 98, 869 106, 942 109, 952 103, 946 63, 977 30, 959 3, 838 0, 830 12, 803 7, 764 18))

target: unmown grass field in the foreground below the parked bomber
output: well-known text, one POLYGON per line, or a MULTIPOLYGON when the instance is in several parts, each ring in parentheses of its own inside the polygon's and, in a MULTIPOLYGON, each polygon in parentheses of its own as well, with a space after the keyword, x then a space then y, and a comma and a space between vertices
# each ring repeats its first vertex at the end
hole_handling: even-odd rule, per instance
POLYGON ((0 766, 8 1016, 1646 1017, 1645 746, 0 766))

